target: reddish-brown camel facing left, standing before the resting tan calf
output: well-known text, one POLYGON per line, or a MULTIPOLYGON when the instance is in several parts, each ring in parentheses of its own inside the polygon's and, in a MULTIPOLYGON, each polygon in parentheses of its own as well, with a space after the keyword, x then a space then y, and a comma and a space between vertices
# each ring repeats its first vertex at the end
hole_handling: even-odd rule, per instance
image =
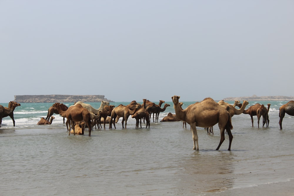
MULTIPOLYGON (((71 134, 71 125, 72 128, 75 129, 74 123, 83 120, 89 129, 89 136, 91 136, 91 115, 89 110, 86 108, 83 108, 81 104, 76 104, 74 106, 69 107, 66 111, 62 111, 60 107, 60 103, 55 103, 54 107, 57 108, 59 114, 62 117, 66 117, 68 123, 69 123, 69 135, 71 134)), ((75 133, 74 133, 75 134, 75 133)))

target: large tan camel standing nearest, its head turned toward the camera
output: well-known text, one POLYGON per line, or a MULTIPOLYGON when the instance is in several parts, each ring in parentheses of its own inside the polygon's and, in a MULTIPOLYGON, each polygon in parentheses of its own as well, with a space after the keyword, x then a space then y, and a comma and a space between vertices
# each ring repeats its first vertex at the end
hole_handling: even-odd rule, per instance
POLYGON ((231 129, 233 129, 231 123, 230 113, 228 112, 228 107, 225 108, 216 103, 212 98, 205 98, 198 104, 192 104, 184 110, 180 109, 179 98, 180 96, 172 96, 173 107, 175 108, 176 115, 180 120, 185 120, 190 124, 193 134, 193 150, 199 150, 198 146, 198 135, 197 127, 212 127, 218 123, 220 128, 220 143, 216 150, 220 148, 220 145, 225 140, 225 129, 229 135, 229 148, 231 150, 231 144, 233 140, 233 135, 231 129))

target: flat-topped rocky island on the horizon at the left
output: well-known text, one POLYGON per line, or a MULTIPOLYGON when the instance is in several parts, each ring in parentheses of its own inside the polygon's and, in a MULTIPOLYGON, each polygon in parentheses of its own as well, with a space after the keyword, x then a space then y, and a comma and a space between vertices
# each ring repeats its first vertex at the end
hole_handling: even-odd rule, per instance
POLYGON ((104 95, 15 95, 14 101, 18 103, 74 103, 82 102, 113 102, 104 98, 104 95))

